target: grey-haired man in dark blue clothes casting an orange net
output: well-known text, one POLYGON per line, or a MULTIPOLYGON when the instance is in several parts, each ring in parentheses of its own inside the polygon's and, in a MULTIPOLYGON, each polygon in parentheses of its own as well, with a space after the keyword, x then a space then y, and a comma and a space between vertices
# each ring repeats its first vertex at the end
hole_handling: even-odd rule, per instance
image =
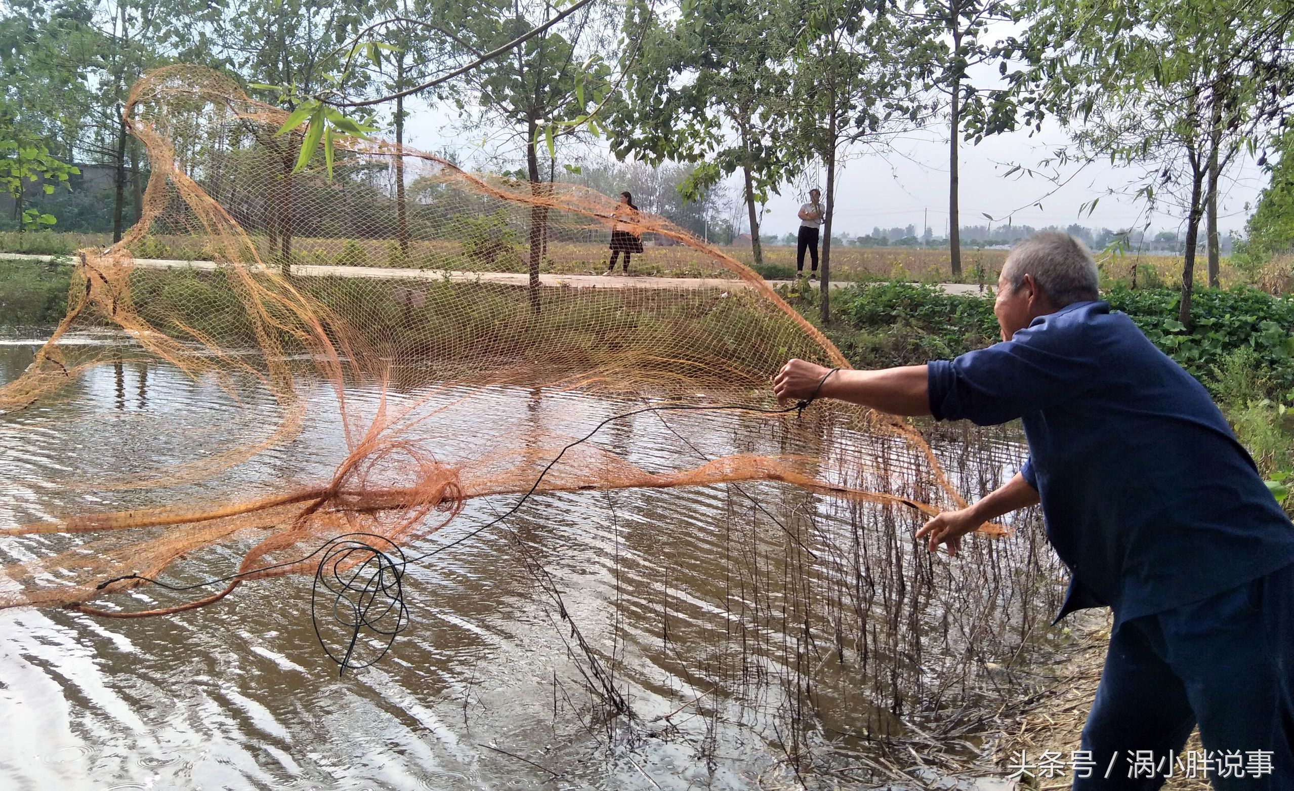
POLYGON ((1096 768, 1075 788, 1158 788, 1196 724, 1214 787, 1294 787, 1294 526, 1249 453, 1205 388, 1097 300, 1096 265, 1073 237, 1017 245, 994 313, 1002 343, 989 348, 833 375, 792 360, 774 391, 978 425, 1021 418, 1020 473, 916 535, 956 554, 985 522, 1042 502, 1071 572, 1057 620, 1114 611, 1083 728, 1096 768), (1136 751, 1153 751, 1153 777, 1136 751), (1223 772, 1228 753, 1246 777, 1223 772))

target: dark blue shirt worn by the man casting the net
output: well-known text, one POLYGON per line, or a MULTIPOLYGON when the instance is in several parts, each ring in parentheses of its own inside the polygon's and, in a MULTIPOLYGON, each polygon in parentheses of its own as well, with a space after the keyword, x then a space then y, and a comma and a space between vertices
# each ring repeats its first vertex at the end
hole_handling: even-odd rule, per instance
POLYGON ((1115 625, 1294 563, 1294 526, 1209 392, 1104 302, 928 368, 936 419, 1021 418, 1020 470, 1070 570, 1057 620, 1115 625))

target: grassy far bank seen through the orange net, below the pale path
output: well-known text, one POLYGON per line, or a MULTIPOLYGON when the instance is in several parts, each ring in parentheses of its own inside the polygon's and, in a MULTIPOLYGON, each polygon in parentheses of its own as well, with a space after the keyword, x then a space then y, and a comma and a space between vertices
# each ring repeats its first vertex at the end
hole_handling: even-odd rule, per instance
MULTIPOLYGON (((57 324, 71 274, 66 265, 0 262, 0 306, 14 306, 0 324, 57 324)), ((224 273, 137 268, 129 277, 131 306, 159 331, 226 348, 258 346, 248 309, 224 273)), ((722 386, 769 369, 775 357, 820 356, 789 317, 744 289, 542 289, 536 313, 528 289, 502 284, 300 277, 292 285, 321 306, 317 317, 349 344, 347 353, 367 350, 455 372, 493 372, 503 361, 554 378, 603 370, 615 379, 609 372, 620 372, 635 388, 714 372, 713 384, 722 386)), ((283 348, 305 351, 300 316, 265 307, 283 348)))

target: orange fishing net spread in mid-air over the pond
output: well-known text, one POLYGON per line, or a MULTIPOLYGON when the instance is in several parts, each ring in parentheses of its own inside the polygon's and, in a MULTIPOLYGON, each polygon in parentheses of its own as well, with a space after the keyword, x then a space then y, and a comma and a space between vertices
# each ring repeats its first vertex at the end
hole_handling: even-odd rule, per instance
POLYGON ((61 482, 142 491, 150 506, 4 529, 32 542, 30 559, 5 568, 0 606, 116 616, 202 606, 239 581, 314 574, 312 553, 330 539, 406 546, 466 501, 524 493, 536 480, 538 492, 778 480, 925 513, 964 505, 911 426, 839 405, 833 419, 920 451, 930 504, 820 475, 818 458, 793 453, 793 435, 824 423, 795 413, 754 418, 784 426, 784 454, 697 466, 681 453, 675 467, 648 470, 613 443, 563 453, 575 432, 537 434, 524 414, 489 412, 483 396, 499 387, 771 407, 769 379, 788 357, 848 366, 752 269, 660 217, 580 186, 475 175, 375 140, 338 139, 331 175, 322 154, 294 173, 300 132, 276 135, 287 114, 197 67, 149 74, 126 117, 151 163, 142 216, 119 243, 79 252, 66 317, 0 390, 0 409, 72 397, 82 372, 131 357, 219 388, 226 409, 207 418, 210 431, 185 436, 185 453, 119 448, 128 471, 61 482), (688 277, 598 277, 616 246, 608 240, 626 234, 620 247, 644 241, 646 256, 688 277), (131 343, 65 343, 104 326, 131 343), (255 418, 239 417, 252 404, 255 418), (330 475, 285 473, 256 489, 230 473, 303 438, 343 448, 330 475), (214 563, 217 548, 239 558, 237 568, 214 563), (119 596, 145 584, 124 575, 192 581, 212 571, 242 576, 145 610, 119 596))

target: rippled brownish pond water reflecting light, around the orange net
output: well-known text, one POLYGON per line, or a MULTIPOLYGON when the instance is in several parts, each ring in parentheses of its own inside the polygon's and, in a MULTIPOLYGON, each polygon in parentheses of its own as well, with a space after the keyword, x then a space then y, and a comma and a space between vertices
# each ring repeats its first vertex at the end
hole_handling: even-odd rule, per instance
MULTIPOLYGON (((96 482, 179 469, 263 435, 277 407, 255 388, 233 400, 216 382, 141 360, 122 337, 74 340, 120 343, 120 356, 62 403, 0 416, 0 526, 204 491, 255 496, 327 479, 344 456, 321 386, 299 439, 215 480, 105 488, 96 482)), ((0 343, 3 381, 35 343, 0 343)), ((547 454, 626 407, 518 387, 431 414, 467 392, 391 397, 428 399, 437 456, 484 469, 502 431, 547 454)), ((378 391, 348 397, 371 410, 378 391)), ((789 418, 648 413, 611 423, 598 445, 652 471, 802 453, 840 483, 930 496, 916 453, 828 417, 806 414, 791 430, 789 418)), ((945 439, 937 449, 969 493, 1021 458, 1005 435, 958 429, 945 439)), ((512 502, 472 501, 411 550, 453 541, 512 502)), ((898 770, 929 779, 951 770, 947 759, 889 760, 876 739, 938 722, 970 739, 961 755, 973 756, 955 709, 991 695, 1000 680, 985 668, 1043 640, 1058 581, 1034 529, 932 563, 914 553, 916 524, 906 510, 780 484, 546 495, 411 568, 410 629, 382 663, 345 678, 316 642, 308 579, 254 583, 170 618, 0 611, 10 712, 0 777, 6 788, 744 788, 792 787, 797 770, 867 779, 902 760, 898 770), (615 716, 608 689, 631 715, 615 716)), ((22 562, 60 540, 3 539, 0 557, 22 562)), ((206 571, 226 574, 237 557, 215 551, 206 571)), ((126 603, 159 596, 145 588, 126 603)))

